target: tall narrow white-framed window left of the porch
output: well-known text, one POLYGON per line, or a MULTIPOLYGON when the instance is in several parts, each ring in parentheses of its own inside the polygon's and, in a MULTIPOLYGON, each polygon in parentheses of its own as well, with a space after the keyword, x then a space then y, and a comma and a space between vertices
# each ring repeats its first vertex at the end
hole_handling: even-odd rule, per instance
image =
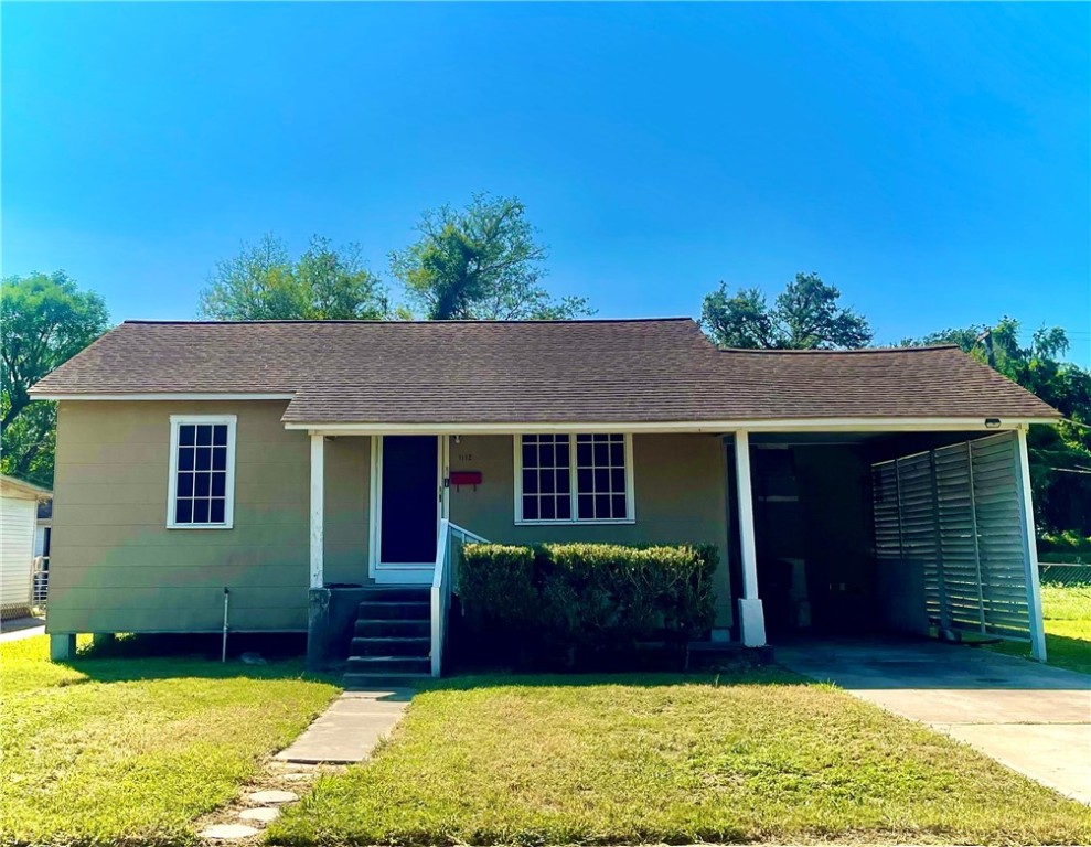
POLYGON ((235 416, 172 415, 167 526, 231 529, 235 507, 235 416))

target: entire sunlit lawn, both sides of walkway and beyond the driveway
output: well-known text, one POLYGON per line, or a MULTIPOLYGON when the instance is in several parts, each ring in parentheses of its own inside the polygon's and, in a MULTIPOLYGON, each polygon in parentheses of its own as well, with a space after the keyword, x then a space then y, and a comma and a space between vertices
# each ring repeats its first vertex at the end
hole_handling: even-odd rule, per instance
MULTIPOLYGON (((1044 586, 1049 661, 1091 673, 1091 586, 1044 586)), ((1022 655, 1023 644, 990 648, 1022 655)), ((0 847, 192 845, 336 688, 243 666, 0 645, 0 847)), ((272 844, 1088 844, 1091 810, 924 727, 781 672, 467 677, 272 844)))

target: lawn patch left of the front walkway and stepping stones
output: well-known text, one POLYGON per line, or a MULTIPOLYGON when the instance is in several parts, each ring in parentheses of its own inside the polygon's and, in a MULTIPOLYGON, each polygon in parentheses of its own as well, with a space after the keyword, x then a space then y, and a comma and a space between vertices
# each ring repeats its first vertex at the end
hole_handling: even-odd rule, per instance
POLYGON ((119 652, 62 665, 44 635, 0 645, 0 845, 194 844, 192 821, 336 693, 298 662, 119 652))

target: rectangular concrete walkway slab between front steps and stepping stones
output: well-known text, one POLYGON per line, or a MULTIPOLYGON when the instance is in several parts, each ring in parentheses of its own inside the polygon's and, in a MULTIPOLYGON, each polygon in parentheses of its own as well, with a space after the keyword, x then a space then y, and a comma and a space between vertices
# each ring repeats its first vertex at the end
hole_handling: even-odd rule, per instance
POLYGON ((345 691, 277 759, 300 764, 361 762, 402 719, 414 691, 345 691))

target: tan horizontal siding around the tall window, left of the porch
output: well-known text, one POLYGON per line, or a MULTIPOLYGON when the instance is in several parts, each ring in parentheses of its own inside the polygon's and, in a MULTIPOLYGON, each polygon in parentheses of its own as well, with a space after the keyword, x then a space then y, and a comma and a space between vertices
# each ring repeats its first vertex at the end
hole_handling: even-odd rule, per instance
POLYGON ((233 629, 306 629, 310 459, 284 409, 62 403, 50 630, 216 630, 225 586, 233 629), (165 527, 171 415, 238 416, 234 528, 165 527))

